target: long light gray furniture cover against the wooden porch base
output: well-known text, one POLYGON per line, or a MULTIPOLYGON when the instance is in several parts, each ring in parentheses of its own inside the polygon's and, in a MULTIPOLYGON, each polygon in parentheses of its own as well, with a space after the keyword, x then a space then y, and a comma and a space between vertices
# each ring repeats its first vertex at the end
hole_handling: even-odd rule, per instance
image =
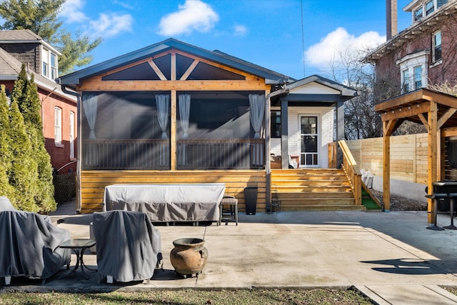
POLYGON ((104 210, 141 211, 153 222, 219 221, 225 184, 114 184, 104 210))

